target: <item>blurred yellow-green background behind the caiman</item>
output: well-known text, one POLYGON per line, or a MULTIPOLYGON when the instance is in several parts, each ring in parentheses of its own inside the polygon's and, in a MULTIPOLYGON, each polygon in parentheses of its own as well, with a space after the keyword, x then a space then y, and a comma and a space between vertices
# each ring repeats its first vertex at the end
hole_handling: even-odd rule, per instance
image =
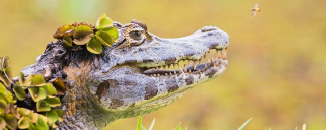
MULTIPOLYGON (((149 127, 172 129, 326 129, 326 1, 2 1, 0 56, 14 73, 42 54, 63 24, 143 20, 161 38, 192 34, 215 25, 230 36, 229 66, 219 78, 198 85, 174 104, 143 116, 149 127)), ((137 117, 107 129, 135 129, 137 117)))

